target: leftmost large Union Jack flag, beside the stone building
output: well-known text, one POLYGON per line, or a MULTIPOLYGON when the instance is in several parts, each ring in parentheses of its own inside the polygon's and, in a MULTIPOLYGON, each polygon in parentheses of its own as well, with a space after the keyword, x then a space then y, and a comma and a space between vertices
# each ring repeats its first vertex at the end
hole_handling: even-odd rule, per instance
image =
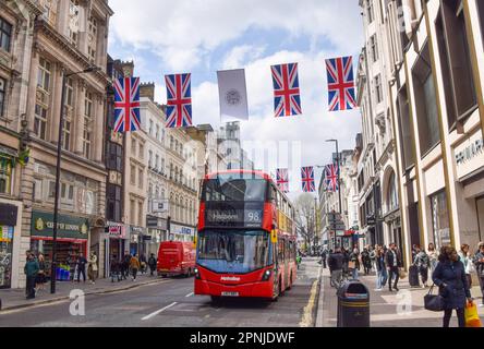
POLYGON ((114 132, 141 130, 140 77, 114 80, 114 132))

